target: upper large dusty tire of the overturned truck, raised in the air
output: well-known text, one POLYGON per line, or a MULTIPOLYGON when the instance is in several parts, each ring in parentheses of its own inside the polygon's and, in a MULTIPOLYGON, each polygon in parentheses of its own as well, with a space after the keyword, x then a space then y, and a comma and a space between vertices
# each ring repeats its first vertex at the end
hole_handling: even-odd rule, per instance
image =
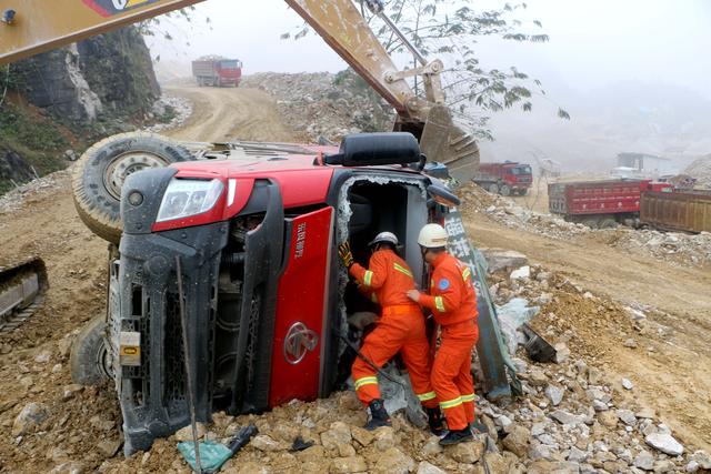
POLYGON ((94 234, 118 244, 126 178, 146 168, 193 159, 182 145, 154 133, 129 132, 103 139, 77 162, 72 180, 77 212, 94 234))

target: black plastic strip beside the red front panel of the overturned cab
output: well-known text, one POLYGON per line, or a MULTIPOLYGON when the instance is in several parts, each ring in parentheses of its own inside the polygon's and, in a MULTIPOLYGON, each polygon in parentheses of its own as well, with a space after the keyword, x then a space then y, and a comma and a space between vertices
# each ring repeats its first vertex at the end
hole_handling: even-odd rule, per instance
POLYGON ((231 381, 229 410, 232 414, 261 412, 269 405, 277 296, 284 265, 284 211, 279 185, 272 181, 258 181, 250 201, 266 201, 266 214, 261 224, 247 233, 244 241, 240 331, 234 341, 238 362, 231 381))

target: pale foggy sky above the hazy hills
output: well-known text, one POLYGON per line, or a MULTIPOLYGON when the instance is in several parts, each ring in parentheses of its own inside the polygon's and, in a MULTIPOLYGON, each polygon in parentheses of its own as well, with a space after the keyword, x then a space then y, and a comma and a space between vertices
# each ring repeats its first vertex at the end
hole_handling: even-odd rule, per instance
MULTIPOLYGON (((472 2, 474 8, 501 4, 472 2)), ((662 81, 707 98, 711 75, 711 1, 705 0, 529 0, 522 19, 538 19, 551 40, 523 44, 483 38, 484 67, 517 65, 541 79, 551 98, 565 89, 588 92, 620 80, 662 81)), ((196 26, 163 22, 173 41, 150 39, 161 60, 189 62, 202 54, 243 61, 244 72, 336 72, 346 63, 323 41, 281 40, 301 18, 281 0, 208 0, 197 6, 196 26), (212 21, 212 31, 203 18, 212 21), (186 47, 184 42, 191 46, 186 47)))

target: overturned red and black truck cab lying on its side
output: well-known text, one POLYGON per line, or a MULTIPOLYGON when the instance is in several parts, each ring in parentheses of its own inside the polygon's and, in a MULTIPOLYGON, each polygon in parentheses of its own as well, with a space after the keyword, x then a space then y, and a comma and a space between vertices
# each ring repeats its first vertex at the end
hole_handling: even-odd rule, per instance
POLYGON ((181 311, 198 420, 328 396, 354 359, 347 315, 378 311, 339 263, 338 243, 349 239, 367 264, 372 235, 391 230, 424 286, 418 232, 443 219, 442 200, 459 203, 418 171, 409 133, 351 135, 340 150, 228 145, 221 160, 123 184, 108 332, 128 454, 189 421, 181 311))

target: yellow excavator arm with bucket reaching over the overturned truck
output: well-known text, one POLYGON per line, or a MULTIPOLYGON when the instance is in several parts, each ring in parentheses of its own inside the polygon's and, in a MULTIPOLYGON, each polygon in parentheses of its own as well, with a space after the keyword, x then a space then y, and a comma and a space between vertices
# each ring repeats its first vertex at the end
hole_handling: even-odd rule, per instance
MULTIPOLYGON (((48 51, 202 0, 0 0, 0 64, 48 51)), ((397 131, 408 131, 432 161, 469 180, 479 164, 477 142, 454 125, 440 83, 443 64, 427 62, 383 14, 378 0, 368 8, 401 38, 420 65, 399 70, 351 0, 284 0, 397 111, 397 131), (424 98, 408 79, 419 75, 424 98)), ((236 7, 237 8, 237 7, 236 7)))

